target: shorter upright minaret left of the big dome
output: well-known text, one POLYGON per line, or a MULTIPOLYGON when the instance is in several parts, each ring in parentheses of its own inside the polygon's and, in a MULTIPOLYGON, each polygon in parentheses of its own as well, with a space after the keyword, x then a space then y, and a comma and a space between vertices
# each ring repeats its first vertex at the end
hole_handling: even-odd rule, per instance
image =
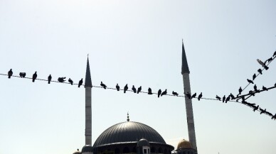
POLYGON ((91 145, 91 75, 89 60, 87 57, 86 75, 85 75, 85 145, 91 145))

